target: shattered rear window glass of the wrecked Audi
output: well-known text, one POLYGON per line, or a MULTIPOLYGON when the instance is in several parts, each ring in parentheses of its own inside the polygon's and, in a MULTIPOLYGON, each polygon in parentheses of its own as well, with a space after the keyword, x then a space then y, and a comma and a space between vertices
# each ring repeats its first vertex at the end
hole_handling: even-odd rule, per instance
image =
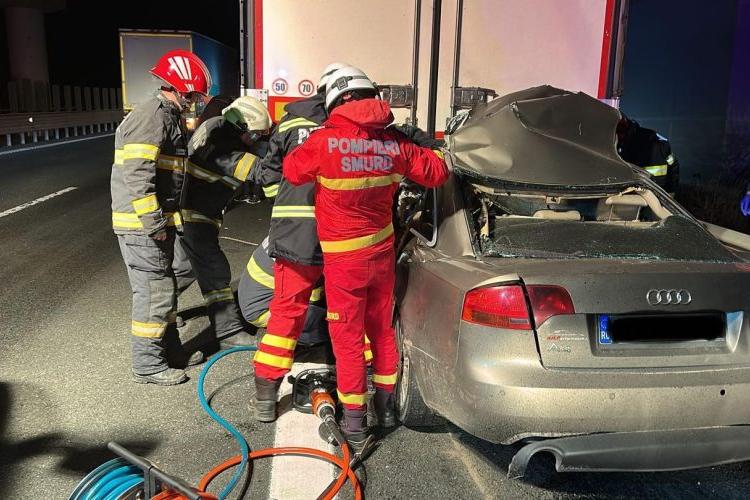
POLYGON ((490 257, 739 261, 696 223, 677 215, 633 225, 497 218, 483 240, 482 253, 490 257))

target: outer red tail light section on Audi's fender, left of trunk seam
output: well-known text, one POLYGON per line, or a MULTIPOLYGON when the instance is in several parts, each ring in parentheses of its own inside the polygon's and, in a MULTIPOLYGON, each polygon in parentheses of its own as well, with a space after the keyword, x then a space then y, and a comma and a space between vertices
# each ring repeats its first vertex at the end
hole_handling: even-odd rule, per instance
POLYGON ((478 325, 531 330, 521 285, 476 288, 466 293, 461 319, 478 325))

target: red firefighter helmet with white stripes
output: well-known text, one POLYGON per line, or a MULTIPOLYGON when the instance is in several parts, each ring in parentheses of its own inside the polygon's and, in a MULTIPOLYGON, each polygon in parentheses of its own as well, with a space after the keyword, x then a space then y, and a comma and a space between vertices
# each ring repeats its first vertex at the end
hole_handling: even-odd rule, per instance
POLYGON ((170 50, 151 68, 151 74, 164 80, 180 94, 208 95, 211 73, 198 56, 188 50, 170 50))

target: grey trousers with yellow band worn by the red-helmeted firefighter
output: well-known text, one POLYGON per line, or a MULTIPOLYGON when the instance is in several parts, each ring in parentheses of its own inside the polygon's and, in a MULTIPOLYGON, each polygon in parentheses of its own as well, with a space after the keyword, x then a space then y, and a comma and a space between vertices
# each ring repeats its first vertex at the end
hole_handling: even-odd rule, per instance
POLYGON ((139 375, 166 370, 167 343, 179 344, 177 297, 195 280, 180 239, 174 229, 163 241, 117 236, 133 293, 131 350, 133 372, 139 375))

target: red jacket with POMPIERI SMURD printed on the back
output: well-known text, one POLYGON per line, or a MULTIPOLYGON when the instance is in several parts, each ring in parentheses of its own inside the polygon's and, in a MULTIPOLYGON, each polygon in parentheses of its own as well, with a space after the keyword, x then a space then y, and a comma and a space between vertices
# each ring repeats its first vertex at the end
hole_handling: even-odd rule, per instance
POLYGON ((315 216, 326 259, 393 245, 391 206, 399 182, 435 187, 448 179, 441 152, 385 127, 390 106, 365 99, 334 109, 324 127, 284 160, 292 184, 315 182, 315 216))

